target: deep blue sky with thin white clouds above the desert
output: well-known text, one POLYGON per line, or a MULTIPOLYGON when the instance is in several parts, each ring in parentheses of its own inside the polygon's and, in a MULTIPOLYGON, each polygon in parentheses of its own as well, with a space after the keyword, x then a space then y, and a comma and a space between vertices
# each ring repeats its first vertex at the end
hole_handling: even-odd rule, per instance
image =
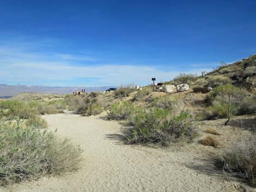
POLYGON ((256 53, 256 1, 1 1, 0 83, 169 80, 256 53))

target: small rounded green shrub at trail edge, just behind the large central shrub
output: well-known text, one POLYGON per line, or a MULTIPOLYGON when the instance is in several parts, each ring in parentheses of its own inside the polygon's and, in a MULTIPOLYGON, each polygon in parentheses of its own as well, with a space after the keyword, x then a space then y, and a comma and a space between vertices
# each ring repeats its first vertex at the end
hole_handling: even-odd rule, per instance
POLYGON ((111 105, 108 112, 108 119, 124 120, 133 112, 135 112, 135 106, 131 102, 120 101, 111 105))

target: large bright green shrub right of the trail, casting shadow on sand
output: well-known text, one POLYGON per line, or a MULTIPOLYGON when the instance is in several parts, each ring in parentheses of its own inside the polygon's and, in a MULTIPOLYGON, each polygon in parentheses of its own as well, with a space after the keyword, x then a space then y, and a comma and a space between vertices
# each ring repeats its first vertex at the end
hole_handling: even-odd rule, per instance
POLYGON ((128 143, 158 144, 167 146, 171 141, 189 135, 190 114, 173 113, 168 109, 140 109, 129 116, 132 125, 127 133, 128 143))

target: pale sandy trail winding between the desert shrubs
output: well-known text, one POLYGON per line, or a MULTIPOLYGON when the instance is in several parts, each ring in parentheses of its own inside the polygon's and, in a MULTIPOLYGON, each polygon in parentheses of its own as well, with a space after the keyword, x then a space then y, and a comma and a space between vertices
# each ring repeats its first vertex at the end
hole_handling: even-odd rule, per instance
POLYGON ((52 131, 81 145, 85 165, 77 172, 21 183, 8 191, 236 191, 231 182, 191 168, 202 165, 192 153, 122 144, 119 123, 100 115, 44 118, 52 131))

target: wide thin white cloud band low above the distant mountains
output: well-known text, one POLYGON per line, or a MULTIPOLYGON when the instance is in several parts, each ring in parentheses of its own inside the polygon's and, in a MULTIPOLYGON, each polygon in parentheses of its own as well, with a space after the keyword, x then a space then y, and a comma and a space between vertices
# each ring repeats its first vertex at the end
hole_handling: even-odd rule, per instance
MULTIPOLYGON (((28 44, 29 45, 29 44, 28 44)), ((202 66, 191 67, 184 71, 157 69, 150 65, 115 65, 97 64, 95 58, 85 54, 64 54, 51 52, 33 52, 36 45, 22 48, 21 46, 0 46, 0 83, 16 82, 17 84, 26 82, 27 84, 56 85, 57 82, 69 82, 65 86, 102 86, 102 85, 121 85, 121 84, 140 84, 151 83, 151 78, 156 77, 157 81, 170 80, 179 75, 180 72, 197 73, 210 71, 211 67, 202 66), (77 65, 82 61, 87 63, 85 66, 77 65), (196 68, 196 69, 195 69, 196 68), (79 79, 91 79, 82 82, 79 79), (92 81, 95 79, 95 82, 92 81), (36 82, 36 83, 34 83, 36 82), (49 83, 50 82, 50 83, 49 83)), ((91 56, 91 55, 90 55, 91 56)))

